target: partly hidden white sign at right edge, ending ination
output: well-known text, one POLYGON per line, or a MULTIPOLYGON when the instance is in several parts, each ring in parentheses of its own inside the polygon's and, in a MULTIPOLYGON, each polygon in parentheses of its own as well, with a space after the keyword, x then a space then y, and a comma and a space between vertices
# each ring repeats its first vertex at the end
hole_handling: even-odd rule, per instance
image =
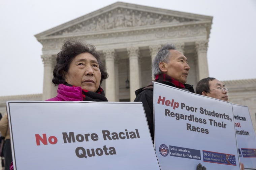
POLYGON ((240 161, 245 169, 256 169, 256 136, 247 106, 232 104, 240 161))

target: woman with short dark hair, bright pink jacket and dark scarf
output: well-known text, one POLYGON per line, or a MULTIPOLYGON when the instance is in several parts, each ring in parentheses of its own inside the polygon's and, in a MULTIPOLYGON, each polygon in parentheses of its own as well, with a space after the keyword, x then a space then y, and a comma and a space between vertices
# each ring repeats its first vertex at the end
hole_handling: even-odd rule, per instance
POLYGON ((58 94, 46 101, 107 102, 100 85, 108 74, 93 45, 66 41, 57 55, 53 76, 58 94))

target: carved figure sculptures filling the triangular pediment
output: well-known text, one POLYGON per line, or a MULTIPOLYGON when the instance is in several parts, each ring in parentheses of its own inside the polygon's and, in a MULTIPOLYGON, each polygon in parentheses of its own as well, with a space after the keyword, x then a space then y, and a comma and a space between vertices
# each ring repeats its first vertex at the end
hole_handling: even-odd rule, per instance
POLYGON ((51 34, 53 35, 65 35, 70 33, 79 32, 95 32, 111 29, 124 29, 128 27, 139 27, 158 25, 165 23, 177 24, 180 22, 188 22, 196 19, 169 16, 158 14, 154 12, 145 12, 133 9, 117 8, 96 17, 82 21, 76 25, 72 25, 62 31, 51 34))

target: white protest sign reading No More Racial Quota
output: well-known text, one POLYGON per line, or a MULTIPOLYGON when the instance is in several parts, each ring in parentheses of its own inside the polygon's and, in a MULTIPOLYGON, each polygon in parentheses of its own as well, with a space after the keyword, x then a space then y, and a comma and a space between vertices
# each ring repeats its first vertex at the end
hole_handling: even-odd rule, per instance
POLYGON ((14 169, 160 169, 142 103, 7 101, 14 169))

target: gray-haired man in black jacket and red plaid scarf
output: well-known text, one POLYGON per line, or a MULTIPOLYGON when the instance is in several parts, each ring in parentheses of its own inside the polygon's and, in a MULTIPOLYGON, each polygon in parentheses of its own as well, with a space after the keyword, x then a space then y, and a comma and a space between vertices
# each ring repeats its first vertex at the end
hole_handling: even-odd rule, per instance
MULTIPOLYGON (((152 63, 152 71, 156 82, 192 93, 194 89, 187 82, 190 67, 181 52, 173 44, 165 45, 156 55, 152 63)), ((153 111, 153 83, 135 91, 134 102, 142 102, 149 125, 150 134, 154 141, 154 111, 153 111)))

